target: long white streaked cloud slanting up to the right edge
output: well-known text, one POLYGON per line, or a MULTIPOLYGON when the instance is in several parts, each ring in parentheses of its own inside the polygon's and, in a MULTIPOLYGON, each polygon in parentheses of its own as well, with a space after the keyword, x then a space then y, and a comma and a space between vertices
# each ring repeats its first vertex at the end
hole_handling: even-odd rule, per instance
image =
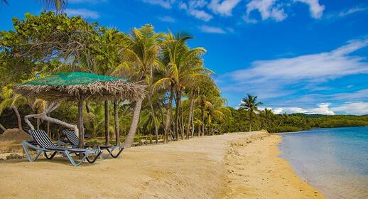
POLYGON ((229 73, 233 80, 246 82, 279 82, 282 85, 299 80, 323 82, 325 80, 368 73, 365 58, 352 56, 355 52, 368 45, 368 39, 350 41, 347 45, 325 53, 301 55, 294 58, 276 60, 258 60, 251 63, 251 68, 229 73))

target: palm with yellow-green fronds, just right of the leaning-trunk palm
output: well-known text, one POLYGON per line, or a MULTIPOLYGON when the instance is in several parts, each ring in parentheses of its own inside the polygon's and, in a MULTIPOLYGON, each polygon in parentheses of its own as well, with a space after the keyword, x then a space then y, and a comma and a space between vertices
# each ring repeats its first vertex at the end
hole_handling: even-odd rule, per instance
POLYGON ((186 42, 192 38, 184 34, 169 32, 165 40, 161 43, 163 52, 161 53, 160 72, 163 77, 154 85, 161 85, 167 90, 170 90, 168 102, 165 131, 168 133, 170 128, 170 115, 172 107, 172 99, 175 95, 175 137, 178 139, 181 132, 182 139, 184 137, 183 118, 180 119, 181 98, 185 87, 193 85, 193 82, 202 75, 212 73, 211 70, 202 67, 202 55, 206 52, 204 48, 188 48, 186 42))

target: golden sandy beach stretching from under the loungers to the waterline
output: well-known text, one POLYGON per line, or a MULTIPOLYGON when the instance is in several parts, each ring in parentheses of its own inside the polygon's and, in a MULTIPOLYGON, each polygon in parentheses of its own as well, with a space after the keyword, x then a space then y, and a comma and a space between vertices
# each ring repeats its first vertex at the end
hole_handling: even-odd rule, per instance
POLYGON ((0 198, 324 198, 278 158, 264 131, 126 149, 70 166, 65 158, 0 162, 0 198))

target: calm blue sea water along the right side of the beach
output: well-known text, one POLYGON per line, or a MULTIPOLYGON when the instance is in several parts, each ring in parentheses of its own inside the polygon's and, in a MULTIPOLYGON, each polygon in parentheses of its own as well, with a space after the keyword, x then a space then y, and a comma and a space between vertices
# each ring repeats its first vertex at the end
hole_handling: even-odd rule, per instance
POLYGON ((327 198, 368 198, 368 127, 281 134, 281 158, 327 198))

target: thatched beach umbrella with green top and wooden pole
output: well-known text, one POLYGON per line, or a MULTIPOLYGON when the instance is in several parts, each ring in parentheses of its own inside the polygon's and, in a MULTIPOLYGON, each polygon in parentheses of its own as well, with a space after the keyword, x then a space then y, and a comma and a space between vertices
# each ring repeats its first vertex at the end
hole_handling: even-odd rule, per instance
MULTIPOLYGON (((85 100, 102 101, 129 99, 136 101, 146 95, 145 86, 119 77, 87 72, 67 72, 50 75, 16 85, 14 90, 25 97, 48 102, 76 101, 80 144, 84 143, 83 104, 85 100)), ((65 123, 66 124, 66 123, 65 123)))

